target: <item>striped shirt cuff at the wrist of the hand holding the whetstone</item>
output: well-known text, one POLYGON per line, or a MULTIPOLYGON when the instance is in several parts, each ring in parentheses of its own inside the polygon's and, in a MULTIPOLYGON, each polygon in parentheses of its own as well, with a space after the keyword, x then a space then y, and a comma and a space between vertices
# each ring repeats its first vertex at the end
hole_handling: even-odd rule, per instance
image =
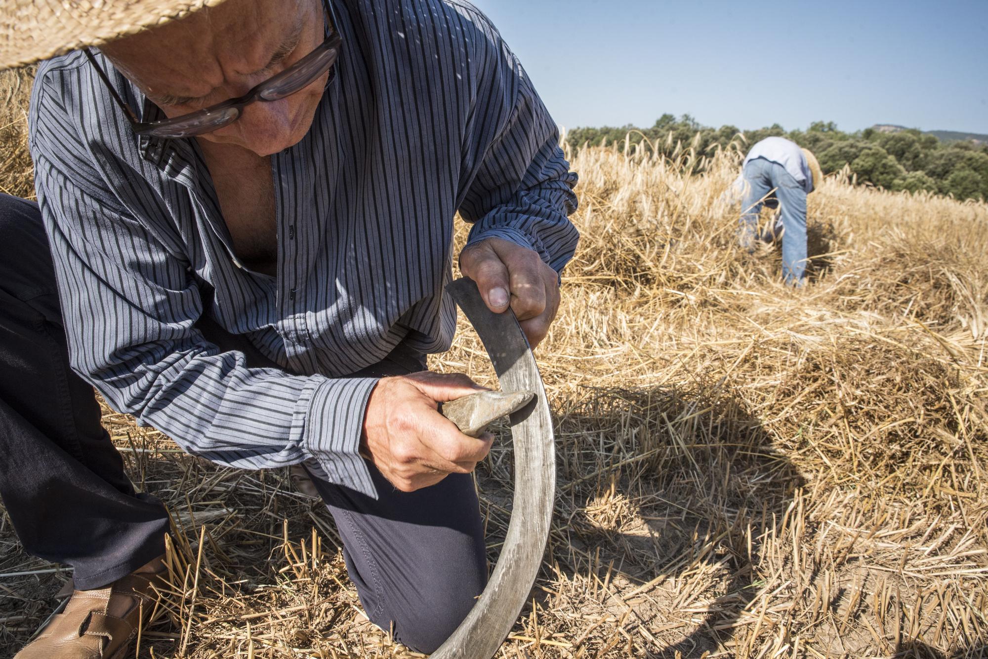
POLYGON ((295 407, 296 415, 304 415, 296 419, 303 424, 302 451, 321 468, 320 476, 373 499, 377 490, 360 447, 364 413, 376 384, 376 378, 323 379, 307 388, 295 407))

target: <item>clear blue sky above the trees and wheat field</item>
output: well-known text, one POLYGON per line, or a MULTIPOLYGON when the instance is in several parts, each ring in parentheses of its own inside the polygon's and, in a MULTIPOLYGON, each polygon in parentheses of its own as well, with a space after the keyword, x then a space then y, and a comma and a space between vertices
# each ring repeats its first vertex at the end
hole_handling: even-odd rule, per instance
POLYGON ((556 121, 988 133, 988 0, 473 0, 556 121))

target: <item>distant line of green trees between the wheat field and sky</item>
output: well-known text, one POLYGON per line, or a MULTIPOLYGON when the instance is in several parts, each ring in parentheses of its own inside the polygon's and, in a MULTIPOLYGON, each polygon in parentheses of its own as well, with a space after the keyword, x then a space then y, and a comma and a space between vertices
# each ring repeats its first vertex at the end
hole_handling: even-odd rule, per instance
POLYGON ((689 114, 676 118, 663 114, 648 128, 631 125, 576 128, 566 135, 574 149, 585 144, 612 144, 653 148, 671 156, 693 148, 709 154, 716 148, 747 151, 755 142, 780 135, 812 151, 824 174, 845 167, 858 183, 890 190, 928 190, 952 194, 957 199, 988 200, 988 145, 973 142, 941 142, 936 136, 915 129, 880 132, 865 128, 848 133, 833 121, 814 121, 806 130, 786 132, 778 123, 768 128, 740 131, 736 126, 719 128, 700 125, 689 114), (649 144, 642 144, 647 138, 649 144))

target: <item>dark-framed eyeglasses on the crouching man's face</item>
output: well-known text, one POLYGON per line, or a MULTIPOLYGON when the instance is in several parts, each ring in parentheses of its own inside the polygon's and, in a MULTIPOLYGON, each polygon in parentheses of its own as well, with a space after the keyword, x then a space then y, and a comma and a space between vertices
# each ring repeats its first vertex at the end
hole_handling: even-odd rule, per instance
MULTIPOLYGON (((329 11, 332 13, 332 6, 330 6, 329 11)), ((323 16, 325 16, 325 13, 323 16)), ((151 121, 149 123, 139 121, 134 111, 130 110, 130 107, 124 103, 117 90, 110 84, 110 79, 103 71, 103 68, 97 63, 96 58, 93 57, 89 48, 85 49, 85 53, 89 61, 96 67, 96 72, 107 86, 107 89, 110 90, 110 94, 114 97, 117 105, 124 110, 133 132, 138 135, 153 135, 155 137, 193 137, 218 130, 223 126, 233 123, 240 118, 243 109, 252 103, 257 101, 281 101, 315 82, 319 76, 329 70, 339 54, 340 44, 343 43, 343 38, 340 37, 336 26, 336 17, 334 16, 332 34, 316 46, 315 50, 299 59, 281 73, 257 85, 243 96, 217 103, 203 110, 196 110, 195 112, 182 114, 181 116, 161 119, 160 121, 151 121)), ((328 26, 327 30, 329 30, 328 26)))

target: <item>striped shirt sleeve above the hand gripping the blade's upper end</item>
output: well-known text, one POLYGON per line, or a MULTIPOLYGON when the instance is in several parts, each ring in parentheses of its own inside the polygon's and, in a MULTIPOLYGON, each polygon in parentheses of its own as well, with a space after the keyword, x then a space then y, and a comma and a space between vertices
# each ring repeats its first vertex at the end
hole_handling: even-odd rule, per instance
POLYGON ((459 213, 473 223, 467 245, 501 238, 534 250, 561 272, 579 241, 568 218, 577 207, 577 175, 569 171, 558 128, 525 69, 517 61, 511 68, 504 88, 514 90, 513 108, 486 149, 459 213))

